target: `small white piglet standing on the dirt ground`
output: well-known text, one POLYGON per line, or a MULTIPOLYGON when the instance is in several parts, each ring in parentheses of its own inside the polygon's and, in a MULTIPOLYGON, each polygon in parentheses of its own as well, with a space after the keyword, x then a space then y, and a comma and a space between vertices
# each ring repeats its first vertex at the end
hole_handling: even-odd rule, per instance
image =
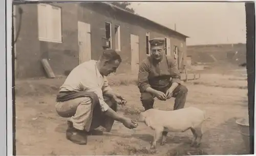
POLYGON ((194 135, 191 146, 200 146, 203 136, 202 123, 204 120, 205 113, 194 107, 174 111, 149 109, 139 114, 139 122, 144 122, 155 131, 151 149, 156 148, 156 143, 161 137, 161 145, 164 145, 168 132, 185 132, 188 129, 194 135))

